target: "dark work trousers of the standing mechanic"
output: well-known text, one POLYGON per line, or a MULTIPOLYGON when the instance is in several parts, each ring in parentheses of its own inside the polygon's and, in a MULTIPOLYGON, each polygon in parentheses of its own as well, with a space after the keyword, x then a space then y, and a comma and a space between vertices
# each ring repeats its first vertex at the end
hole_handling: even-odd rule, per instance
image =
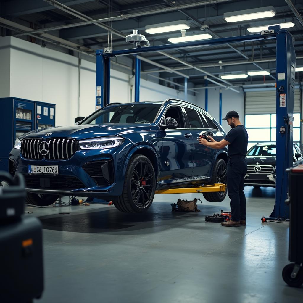
POLYGON ((247 173, 246 158, 231 156, 227 163, 227 192, 230 198, 231 220, 246 219, 246 199, 244 178, 247 173))

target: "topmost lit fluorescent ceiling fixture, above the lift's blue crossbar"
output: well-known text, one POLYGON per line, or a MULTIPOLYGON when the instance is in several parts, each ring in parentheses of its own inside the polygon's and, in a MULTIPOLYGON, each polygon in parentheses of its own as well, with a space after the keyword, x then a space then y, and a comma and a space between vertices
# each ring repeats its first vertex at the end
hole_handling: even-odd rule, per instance
POLYGON ((266 6, 261 8, 245 9, 243 11, 225 13, 223 18, 226 22, 238 22, 245 20, 255 20, 260 18, 269 18, 275 16, 275 8, 266 6))

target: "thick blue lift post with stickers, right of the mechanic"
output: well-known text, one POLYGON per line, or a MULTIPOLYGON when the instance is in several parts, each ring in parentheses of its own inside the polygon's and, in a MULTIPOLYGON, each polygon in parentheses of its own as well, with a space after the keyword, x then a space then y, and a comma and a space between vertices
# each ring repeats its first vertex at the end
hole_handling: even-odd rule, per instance
POLYGON ((285 199, 288 197, 288 173, 285 172, 285 169, 292 167, 292 117, 294 112, 296 55, 291 35, 287 30, 282 30, 277 33, 276 54, 276 203, 270 217, 289 218, 289 207, 285 205, 285 199))

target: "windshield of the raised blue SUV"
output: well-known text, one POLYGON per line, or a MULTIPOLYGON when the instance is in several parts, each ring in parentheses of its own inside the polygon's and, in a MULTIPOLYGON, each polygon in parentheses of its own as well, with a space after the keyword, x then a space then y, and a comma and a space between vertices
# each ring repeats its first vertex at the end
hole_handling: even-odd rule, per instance
POLYGON ((151 123, 154 122, 160 107, 161 104, 146 103, 106 106, 81 124, 151 123))

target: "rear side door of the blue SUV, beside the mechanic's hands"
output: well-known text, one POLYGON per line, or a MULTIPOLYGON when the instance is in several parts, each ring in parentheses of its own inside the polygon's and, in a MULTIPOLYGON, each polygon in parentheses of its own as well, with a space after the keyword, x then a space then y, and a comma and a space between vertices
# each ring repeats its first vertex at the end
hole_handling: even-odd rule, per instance
POLYGON ((201 133, 208 131, 209 127, 196 109, 190 107, 184 107, 184 109, 194 138, 192 176, 201 176, 201 179, 208 178, 214 153, 211 148, 199 144, 198 137, 201 133))

